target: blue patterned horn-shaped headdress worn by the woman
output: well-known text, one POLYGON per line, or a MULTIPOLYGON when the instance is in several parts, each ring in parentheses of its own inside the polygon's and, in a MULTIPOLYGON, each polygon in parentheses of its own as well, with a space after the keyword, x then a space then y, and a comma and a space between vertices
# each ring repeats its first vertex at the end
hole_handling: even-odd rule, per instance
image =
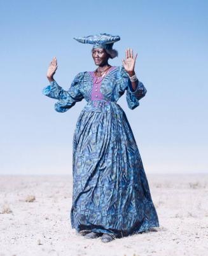
POLYGON ((120 40, 120 36, 112 36, 111 34, 101 33, 95 36, 83 36, 74 38, 80 43, 90 43, 92 48, 104 48, 109 53, 111 59, 118 56, 118 52, 113 49, 113 44, 120 40))

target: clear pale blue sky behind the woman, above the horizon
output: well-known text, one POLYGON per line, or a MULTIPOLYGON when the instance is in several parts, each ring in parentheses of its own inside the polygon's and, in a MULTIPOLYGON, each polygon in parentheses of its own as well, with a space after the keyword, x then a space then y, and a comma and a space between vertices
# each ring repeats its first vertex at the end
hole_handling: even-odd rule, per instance
POLYGON ((57 113, 41 94, 53 56, 55 80, 95 69, 74 36, 118 34, 138 53, 148 90, 127 114, 146 173, 205 173, 208 167, 208 1, 0 1, 0 174, 71 174, 72 139, 85 100, 57 113))

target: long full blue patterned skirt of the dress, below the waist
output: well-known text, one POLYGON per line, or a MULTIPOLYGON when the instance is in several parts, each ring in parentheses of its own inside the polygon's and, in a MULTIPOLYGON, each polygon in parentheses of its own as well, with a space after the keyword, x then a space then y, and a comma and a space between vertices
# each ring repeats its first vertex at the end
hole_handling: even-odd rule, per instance
POLYGON ((125 112, 89 101, 73 138, 71 226, 128 236, 159 227, 141 156, 125 112))

